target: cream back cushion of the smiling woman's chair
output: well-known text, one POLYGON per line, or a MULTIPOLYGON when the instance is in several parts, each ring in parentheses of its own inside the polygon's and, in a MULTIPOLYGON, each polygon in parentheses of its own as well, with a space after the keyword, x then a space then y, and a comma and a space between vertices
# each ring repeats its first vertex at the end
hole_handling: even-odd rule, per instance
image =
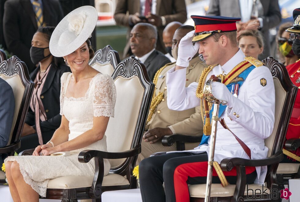
MULTIPOLYGON (((114 84, 117 90, 115 116, 109 119, 105 135, 107 136, 107 151, 122 152, 131 147, 144 88, 137 76, 130 79, 118 76, 114 80, 114 84)), ((111 167, 117 167, 124 161, 125 159, 110 160, 111 167)))

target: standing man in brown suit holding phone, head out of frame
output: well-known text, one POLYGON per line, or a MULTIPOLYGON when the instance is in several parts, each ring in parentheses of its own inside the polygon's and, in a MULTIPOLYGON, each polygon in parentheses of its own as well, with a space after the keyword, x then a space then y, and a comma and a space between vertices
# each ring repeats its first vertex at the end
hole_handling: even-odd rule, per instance
POLYGON ((162 39, 164 27, 173 21, 184 23, 186 18, 185 0, 118 0, 114 19, 118 25, 128 27, 123 58, 131 54, 129 34, 135 24, 147 22, 156 26, 158 30, 156 49, 166 53, 162 39))

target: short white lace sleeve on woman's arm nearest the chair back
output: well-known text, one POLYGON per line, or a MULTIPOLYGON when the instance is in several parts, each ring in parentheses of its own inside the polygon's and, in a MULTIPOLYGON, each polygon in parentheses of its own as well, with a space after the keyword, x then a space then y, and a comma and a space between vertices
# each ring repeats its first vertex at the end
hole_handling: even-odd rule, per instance
POLYGON ((94 116, 114 117, 116 103, 116 87, 111 76, 98 74, 95 78, 93 94, 94 116))

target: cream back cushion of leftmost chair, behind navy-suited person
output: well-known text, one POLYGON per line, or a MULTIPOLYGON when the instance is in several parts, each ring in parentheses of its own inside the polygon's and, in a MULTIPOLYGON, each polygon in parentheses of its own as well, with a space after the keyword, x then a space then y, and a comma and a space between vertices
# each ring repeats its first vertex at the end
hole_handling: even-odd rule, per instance
POLYGON ((13 89, 13 95, 15 97, 15 111, 13 114, 13 124, 12 124, 12 128, 10 130, 10 137, 9 137, 9 141, 11 141, 11 136, 13 133, 13 128, 15 127, 16 121, 17 121, 17 116, 20 110, 20 106, 21 106, 21 102, 22 102, 22 98, 24 95, 24 91, 25 91, 25 86, 23 85, 21 78, 19 75, 12 75, 10 77, 4 75, 4 74, 0 74, 0 77, 2 79, 4 79, 13 89))

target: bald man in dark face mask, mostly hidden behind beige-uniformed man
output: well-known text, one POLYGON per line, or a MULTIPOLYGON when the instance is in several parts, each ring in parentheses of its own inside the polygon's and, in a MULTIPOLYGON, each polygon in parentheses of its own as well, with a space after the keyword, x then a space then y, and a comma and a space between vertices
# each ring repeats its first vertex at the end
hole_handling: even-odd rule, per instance
POLYGON ((177 28, 181 27, 183 24, 180 22, 171 22, 169 23, 166 28, 163 30, 163 44, 165 45, 166 48, 166 54, 165 56, 171 60, 171 62, 175 62, 176 60, 172 56, 172 40, 174 33, 177 28))

